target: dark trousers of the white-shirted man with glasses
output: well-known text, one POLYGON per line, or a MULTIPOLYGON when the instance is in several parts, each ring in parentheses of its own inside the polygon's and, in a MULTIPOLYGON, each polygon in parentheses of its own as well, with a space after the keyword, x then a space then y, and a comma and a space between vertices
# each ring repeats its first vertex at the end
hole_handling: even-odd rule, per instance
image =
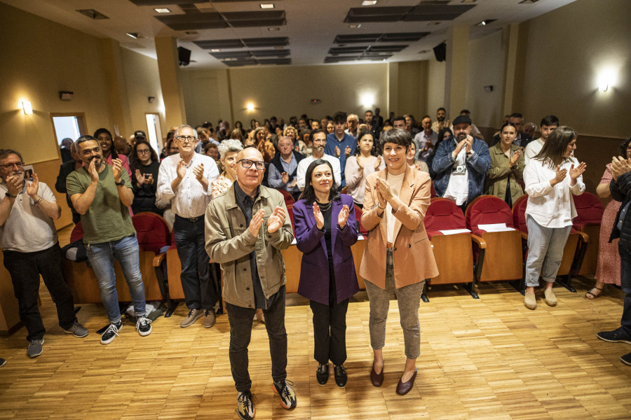
POLYGON ((210 279, 210 258, 205 250, 204 218, 196 222, 175 216, 173 223, 177 256, 182 262, 182 290, 189 309, 212 309, 217 303, 215 284, 210 279))

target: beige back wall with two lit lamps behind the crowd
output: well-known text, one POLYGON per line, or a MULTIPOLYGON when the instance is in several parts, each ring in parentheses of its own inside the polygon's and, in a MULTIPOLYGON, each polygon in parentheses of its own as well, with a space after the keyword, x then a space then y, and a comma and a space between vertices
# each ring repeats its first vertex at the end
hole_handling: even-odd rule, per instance
POLYGON ((363 116, 365 109, 375 107, 381 107, 381 114, 387 116, 387 64, 278 66, 226 71, 182 69, 181 75, 186 118, 191 124, 203 120, 212 120, 214 124, 219 118, 227 118, 231 123, 240 120, 249 127, 252 118, 263 120, 275 115, 287 121, 290 116, 302 113, 311 118, 322 118, 339 110, 363 116), (362 104, 362 94, 373 94, 374 104, 362 104), (226 95, 229 101, 224 102, 226 95), (310 99, 320 99, 321 102, 311 104, 310 99), (255 104, 257 109, 247 112, 248 102, 255 104))

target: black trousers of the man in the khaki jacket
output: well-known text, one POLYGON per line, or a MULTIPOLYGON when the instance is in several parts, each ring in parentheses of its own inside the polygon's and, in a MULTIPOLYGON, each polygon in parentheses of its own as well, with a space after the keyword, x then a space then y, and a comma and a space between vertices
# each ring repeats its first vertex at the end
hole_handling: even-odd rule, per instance
MULTIPOLYGON (((247 346, 252 337, 252 321, 255 308, 238 307, 226 302, 230 322, 230 369, 234 386, 239 392, 252 387, 247 370, 247 346)), ((274 295, 268 309, 263 309, 265 328, 269 337, 269 353, 272 363, 272 379, 276 382, 287 378, 287 330, 285 330, 285 286, 274 295)))

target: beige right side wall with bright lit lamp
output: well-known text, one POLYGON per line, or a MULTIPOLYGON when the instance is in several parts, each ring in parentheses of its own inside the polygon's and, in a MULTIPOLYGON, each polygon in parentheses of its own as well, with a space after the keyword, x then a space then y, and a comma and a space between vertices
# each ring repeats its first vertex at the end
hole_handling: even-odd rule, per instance
POLYGON ((550 113, 580 134, 631 135, 631 25, 628 0, 578 0, 520 25, 515 104, 527 120, 550 113), (597 90, 603 71, 617 82, 597 90))

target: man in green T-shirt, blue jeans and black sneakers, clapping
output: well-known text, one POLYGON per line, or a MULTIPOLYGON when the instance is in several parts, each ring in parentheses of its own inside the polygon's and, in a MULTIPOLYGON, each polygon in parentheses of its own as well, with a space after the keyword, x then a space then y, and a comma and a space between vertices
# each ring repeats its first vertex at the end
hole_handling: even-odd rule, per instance
POLYGON ((151 321, 145 316, 144 284, 136 230, 129 207, 134 200, 133 186, 120 159, 112 165, 103 160, 101 147, 92 136, 81 136, 76 145, 83 167, 69 174, 66 189, 74 209, 81 214, 83 243, 97 276, 101 300, 109 326, 101 344, 109 344, 123 327, 116 293, 114 258, 125 274, 136 314, 136 329, 142 336, 151 334, 151 321))

